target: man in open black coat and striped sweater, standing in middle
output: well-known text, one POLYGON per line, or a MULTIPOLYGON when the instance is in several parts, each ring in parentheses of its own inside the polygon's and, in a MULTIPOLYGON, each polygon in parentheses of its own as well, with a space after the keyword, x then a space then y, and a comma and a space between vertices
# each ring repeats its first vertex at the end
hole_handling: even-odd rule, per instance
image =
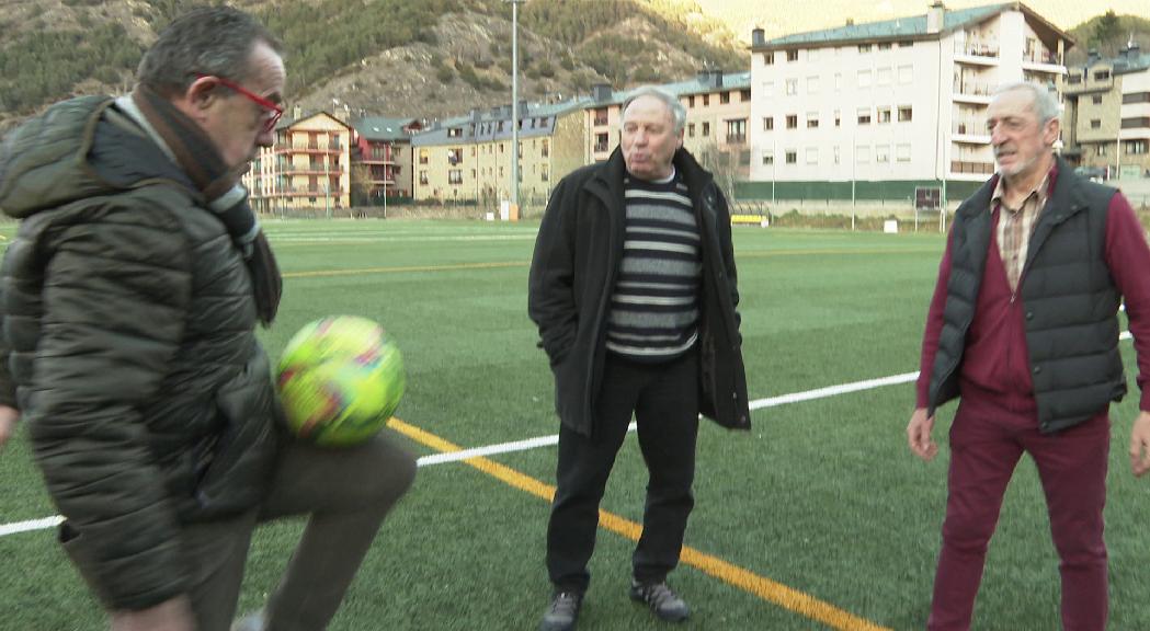
POLYGON ((630 597, 661 620, 695 500, 698 416, 749 429, 726 200, 684 149, 685 110, 654 87, 622 106, 620 148, 555 187, 531 261, 528 309, 555 376, 554 587, 539 626, 575 628, 598 508, 631 415, 650 472, 630 597))

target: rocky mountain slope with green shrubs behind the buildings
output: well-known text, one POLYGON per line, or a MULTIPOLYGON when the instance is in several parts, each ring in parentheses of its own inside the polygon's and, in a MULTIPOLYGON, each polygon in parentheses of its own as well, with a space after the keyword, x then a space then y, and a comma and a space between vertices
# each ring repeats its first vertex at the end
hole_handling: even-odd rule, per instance
MULTIPOLYGON (((0 16, 0 133, 78 93, 123 92, 158 29, 194 0, 7 0, 0 16)), ((509 100, 503 0, 235 0, 281 37, 289 105, 444 116, 509 100)), ((742 70, 745 51, 693 0, 531 0, 521 9, 521 98, 592 83, 742 70), (538 30, 538 32, 535 31, 538 30), (557 31, 557 29, 560 29, 557 31)))

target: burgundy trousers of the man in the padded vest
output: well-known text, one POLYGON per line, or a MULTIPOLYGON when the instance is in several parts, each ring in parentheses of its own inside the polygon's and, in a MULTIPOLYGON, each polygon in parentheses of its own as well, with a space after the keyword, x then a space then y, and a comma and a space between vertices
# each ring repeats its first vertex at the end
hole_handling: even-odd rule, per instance
MULTIPOLYGON (((946 521, 929 631, 966 631, 982 580, 987 545, 1022 453, 1030 454, 1046 497, 1061 575, 1064 631, 1102 631, 1109 615, 1102 510, 1110 454, 1107 411, 1053 433, 1034 413, 964 399, 950 430, 946 521)), ((992 621, 988 628, 994 628, 992 621)))

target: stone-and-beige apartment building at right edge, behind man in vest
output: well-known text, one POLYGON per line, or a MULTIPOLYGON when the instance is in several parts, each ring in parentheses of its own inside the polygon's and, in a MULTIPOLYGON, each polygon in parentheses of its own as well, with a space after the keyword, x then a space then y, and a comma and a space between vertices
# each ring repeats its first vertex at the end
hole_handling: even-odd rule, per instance
POLYGON ((1063 129, 1068 160, 1105 177, 1150 174, 1150 54, 1130 43, 1114 59, 1091 51, 1072 67, 1063 129))

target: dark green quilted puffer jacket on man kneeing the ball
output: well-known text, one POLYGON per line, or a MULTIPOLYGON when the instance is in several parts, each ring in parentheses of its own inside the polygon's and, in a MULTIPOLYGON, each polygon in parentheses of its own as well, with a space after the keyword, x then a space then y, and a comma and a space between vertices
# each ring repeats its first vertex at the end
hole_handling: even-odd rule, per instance
POLYGON ((5 362, 61 540, 110 609, 186 588, 181 524, 255 508, 278 405, 240 253, 108 98, 0 149, 5 362))

